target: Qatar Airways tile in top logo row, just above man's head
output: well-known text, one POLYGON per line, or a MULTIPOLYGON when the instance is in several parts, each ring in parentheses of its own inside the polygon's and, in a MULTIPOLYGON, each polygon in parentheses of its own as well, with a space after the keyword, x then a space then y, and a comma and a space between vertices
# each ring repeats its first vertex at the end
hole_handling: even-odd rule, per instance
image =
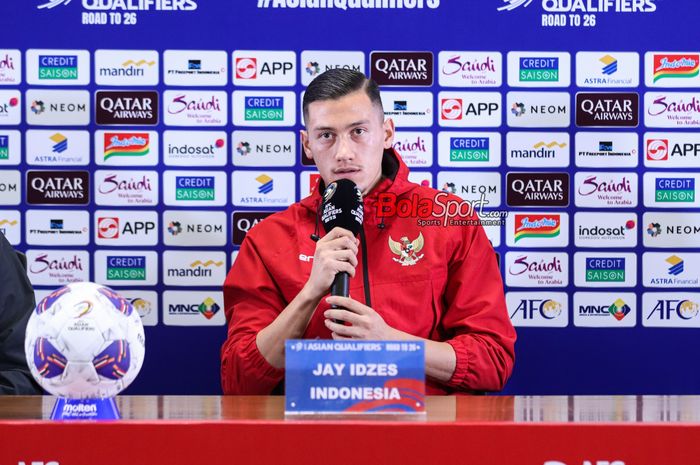
POLYGON ((370 77, 379 85, 433 85, 431 52, 372 52, 370 66, 370 77))

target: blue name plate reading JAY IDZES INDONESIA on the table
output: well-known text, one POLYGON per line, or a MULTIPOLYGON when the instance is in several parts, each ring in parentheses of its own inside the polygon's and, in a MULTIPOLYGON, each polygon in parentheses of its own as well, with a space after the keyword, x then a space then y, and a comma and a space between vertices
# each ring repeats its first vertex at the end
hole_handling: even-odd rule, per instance
POLYGON ((423 341, 288 340, 287 414, 425 413, 423 341))

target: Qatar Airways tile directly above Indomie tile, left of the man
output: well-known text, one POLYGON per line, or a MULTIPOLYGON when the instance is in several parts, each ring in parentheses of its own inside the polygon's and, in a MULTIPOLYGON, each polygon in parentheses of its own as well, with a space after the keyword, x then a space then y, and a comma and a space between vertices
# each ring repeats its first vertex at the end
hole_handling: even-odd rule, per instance
POLYGON ((158 124, 158 92, 98 91, 95 98, 97 124, 158 124))

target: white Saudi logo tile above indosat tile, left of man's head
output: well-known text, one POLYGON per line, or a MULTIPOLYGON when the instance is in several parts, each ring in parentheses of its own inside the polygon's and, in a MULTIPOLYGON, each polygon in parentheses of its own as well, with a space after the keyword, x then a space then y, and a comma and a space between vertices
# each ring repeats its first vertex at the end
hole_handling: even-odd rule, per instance
POLYGON ((224 126, 227 123, 225 92, 166 91, 165 124, 169 126, 224 126))

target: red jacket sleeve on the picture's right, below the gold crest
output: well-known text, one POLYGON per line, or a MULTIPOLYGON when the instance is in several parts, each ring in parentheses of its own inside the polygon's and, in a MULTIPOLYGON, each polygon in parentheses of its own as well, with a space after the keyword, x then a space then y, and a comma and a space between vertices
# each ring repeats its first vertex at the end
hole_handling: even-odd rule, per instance
POLYGON ((457 364, 448 386, 500 391, 513 370, 515 329, 508 316, 496 254, 481 226, 462 228, 449 266, 442 325, 457 364))

